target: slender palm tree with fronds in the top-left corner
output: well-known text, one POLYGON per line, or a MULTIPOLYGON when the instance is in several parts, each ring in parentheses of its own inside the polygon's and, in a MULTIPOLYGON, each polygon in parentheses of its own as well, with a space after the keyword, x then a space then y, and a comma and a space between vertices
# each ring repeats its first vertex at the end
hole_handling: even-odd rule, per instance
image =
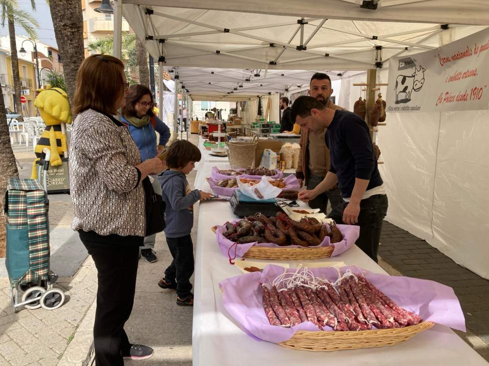
MULTIPOLYGON (((15 109, 19 115, 22 115, 22 105, 20 104, 20 76, 18 71, 17 42, 15 40, 15 25, 20 25, 29 38, 37 37, 34 27, 37 27, 37 21, 28 12, 19 9, 16 0, 0 0, 1 5, 1 25, 8 22, 8 36, 10 38, 10 59, 12 61, 12 79, 13 90, 15 91, 15 109)), ((32 10, 35 10, 35 1, 30 0, 32 10)))

